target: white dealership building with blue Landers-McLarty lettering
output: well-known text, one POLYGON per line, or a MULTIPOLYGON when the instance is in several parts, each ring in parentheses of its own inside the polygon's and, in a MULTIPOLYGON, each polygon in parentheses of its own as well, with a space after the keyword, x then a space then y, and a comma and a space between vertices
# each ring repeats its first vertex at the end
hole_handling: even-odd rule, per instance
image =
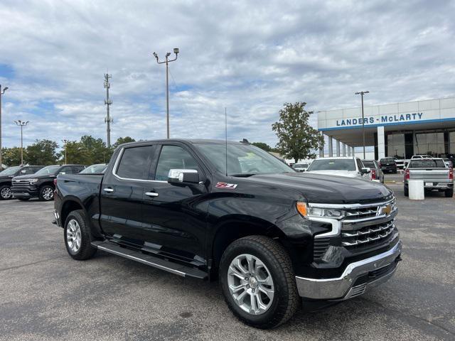
MULTIPOLYGON (((455 156, 455 97, 364 107, 363 125, 365 146, 374 146, 376 160, 455 156)), ((353 148, 363 146, 362 109, 318 112, 318 130, 328 136, 328 156, 354 155, 353 148)))

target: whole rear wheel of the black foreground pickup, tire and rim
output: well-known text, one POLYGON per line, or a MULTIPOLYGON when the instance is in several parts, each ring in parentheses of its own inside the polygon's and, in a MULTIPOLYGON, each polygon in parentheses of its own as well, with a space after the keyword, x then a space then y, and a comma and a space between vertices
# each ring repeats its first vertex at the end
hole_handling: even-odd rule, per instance
POLYGON ((83 261, 92 258, 97 249, 90 244, 90 225, 83 210, 70 212, 65 222, 66 251, 73 259, 83 261))

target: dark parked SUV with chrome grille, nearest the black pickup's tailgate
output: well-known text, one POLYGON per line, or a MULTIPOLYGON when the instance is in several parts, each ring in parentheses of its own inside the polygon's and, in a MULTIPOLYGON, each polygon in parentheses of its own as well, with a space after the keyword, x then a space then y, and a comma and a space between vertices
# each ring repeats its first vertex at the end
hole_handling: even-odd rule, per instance
POLYGON ((34 174, 16 176, 12 179, 11 195, 22 201, 31 197, 39 197, 43 201, 53 200, 57 175, 76 174, 84 168, 82 165, 53 165, 41 168, 34 174))

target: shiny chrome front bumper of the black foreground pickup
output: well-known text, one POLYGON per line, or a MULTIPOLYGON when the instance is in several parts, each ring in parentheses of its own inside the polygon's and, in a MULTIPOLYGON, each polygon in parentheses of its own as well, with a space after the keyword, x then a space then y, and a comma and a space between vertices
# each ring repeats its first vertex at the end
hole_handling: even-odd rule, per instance
POLYGON ((401 254, 401 249, 402 243, 398 241, 395 247, 389 251, 349 264, 338 278, 319 279, 296 276, 299 295, 316 300, 338 301, 365 293, 367 288, 384 283, 393 276, 397 269, 397 258, 401 254), (371 271, 385 268, 385 266, 390 266, 390 269, 382 275, 355 285, 355 281, 361 276, 368 275, 371 271))

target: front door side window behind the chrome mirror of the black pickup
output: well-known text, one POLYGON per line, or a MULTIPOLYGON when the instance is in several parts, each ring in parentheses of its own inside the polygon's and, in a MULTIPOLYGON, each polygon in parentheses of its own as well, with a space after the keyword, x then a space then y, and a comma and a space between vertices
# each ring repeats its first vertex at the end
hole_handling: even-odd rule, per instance
POLYGON ((179 146, 163 146, 156 166, 155 180, 167 181, 170 169, 196 169, 200 173, 198 163, 188 151, 179 146))

